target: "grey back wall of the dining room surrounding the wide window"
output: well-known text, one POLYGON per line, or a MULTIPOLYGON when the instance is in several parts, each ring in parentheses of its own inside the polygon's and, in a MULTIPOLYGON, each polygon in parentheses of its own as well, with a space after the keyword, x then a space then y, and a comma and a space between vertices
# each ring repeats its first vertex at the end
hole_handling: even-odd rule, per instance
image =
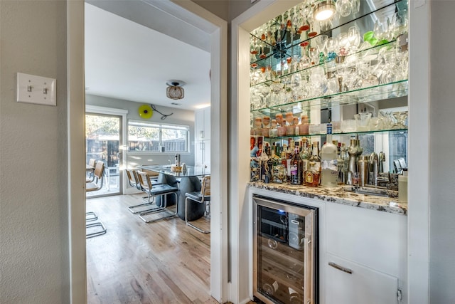
MULTIPOLYGON (((188 125, 190 127, 190 153, 181 153, 181 161, 193 166, 194 165, 194 111, 191 110, 182 110, 176 108, 167 108, 162 106, 157 106, 157 110, 168 115, 173 113, 173 115, 168 116, 165 120, 161 120, 161 115, 159 112, 154 112, 154 115, 149 120, 143 120, 139 116, 138 108, 142 103, 136 103, 129 100, 120 100, 115 98, 107 98, 97 95, 86 95, 85 96, 86 105, 97 105, 100 107, 106 108, 116 108, 128 110, 127 119, 147 121, 147 122, 158 122, 158 123, 168 123, 176 125, 188 125)), ((169 160, 173 162, 175 153, 173 152, 164 152, 164 153, 146 153, 146 152, 128 152, 127 153, 127 167, 137 167, 141 164, 169 164, 169 160)))

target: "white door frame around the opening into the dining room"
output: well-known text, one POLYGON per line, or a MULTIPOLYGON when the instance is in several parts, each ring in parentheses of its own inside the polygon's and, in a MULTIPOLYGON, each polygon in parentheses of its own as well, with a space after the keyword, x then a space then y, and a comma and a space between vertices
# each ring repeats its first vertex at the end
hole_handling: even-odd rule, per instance
MULTIPOLYGON (((169 14, 211 23, 211 171, 210 293, 220 303, 228 300, 228 23, 192 1, 156 1, 169 14), (191 16, 190 16, 191 15, 191 16)), ((197 26, 197 23, 196 23, 197 26)), ((206 28, 205 28, 206 30, 206 28)), ((67 0, 68 49, 68 203, 71 303, 87 302, 85 256, 85 83, 84 1, 67 0)))

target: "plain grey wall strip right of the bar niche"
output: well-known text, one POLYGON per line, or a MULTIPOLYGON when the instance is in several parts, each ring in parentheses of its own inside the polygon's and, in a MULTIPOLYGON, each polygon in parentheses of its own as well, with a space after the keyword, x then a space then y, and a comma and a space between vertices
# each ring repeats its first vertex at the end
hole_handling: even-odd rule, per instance
POLYGON ((455 303, 455 1, 432 1, 430 300, 455 303))

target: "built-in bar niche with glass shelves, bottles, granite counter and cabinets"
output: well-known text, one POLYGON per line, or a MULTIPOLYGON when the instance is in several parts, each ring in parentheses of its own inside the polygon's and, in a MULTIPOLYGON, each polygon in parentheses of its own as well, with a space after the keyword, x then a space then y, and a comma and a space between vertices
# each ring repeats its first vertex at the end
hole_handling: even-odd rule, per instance
MULTIPOLYGON (((317 223, 312 241, 304 233, 296 241, 301 256, 314 256, 299 263, 298 283, 268 282, 273 267, 257 273, 255 243, 254 297, 405 301, 408 1, 306 0, 251 31, 249 52, 253 214, 260 196, 314 208, 317 223)), ((289 227, 299 223, 280 219, 289 244, 289 227)), ((274 250, 274 236, 255 231, 264 250, 274 250)))

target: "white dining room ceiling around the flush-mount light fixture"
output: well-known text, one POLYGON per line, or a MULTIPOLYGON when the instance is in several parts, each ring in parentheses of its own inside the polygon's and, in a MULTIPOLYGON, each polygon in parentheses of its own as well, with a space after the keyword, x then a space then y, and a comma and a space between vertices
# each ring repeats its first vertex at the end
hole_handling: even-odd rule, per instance
MULTIPOLYGON (((163 18, 166 13, 158 14, 163 18)), ((169 24, 172 30, 175 23, 169 24)), ((209 35, 202 37, 210 41, 209 35)), ((207 51, 85 3, 87 94, 195 110, 210 104, 209 73, 207 51), (171 79, 186 83, 185 98, 166 98, 166 80, 171 79)))

